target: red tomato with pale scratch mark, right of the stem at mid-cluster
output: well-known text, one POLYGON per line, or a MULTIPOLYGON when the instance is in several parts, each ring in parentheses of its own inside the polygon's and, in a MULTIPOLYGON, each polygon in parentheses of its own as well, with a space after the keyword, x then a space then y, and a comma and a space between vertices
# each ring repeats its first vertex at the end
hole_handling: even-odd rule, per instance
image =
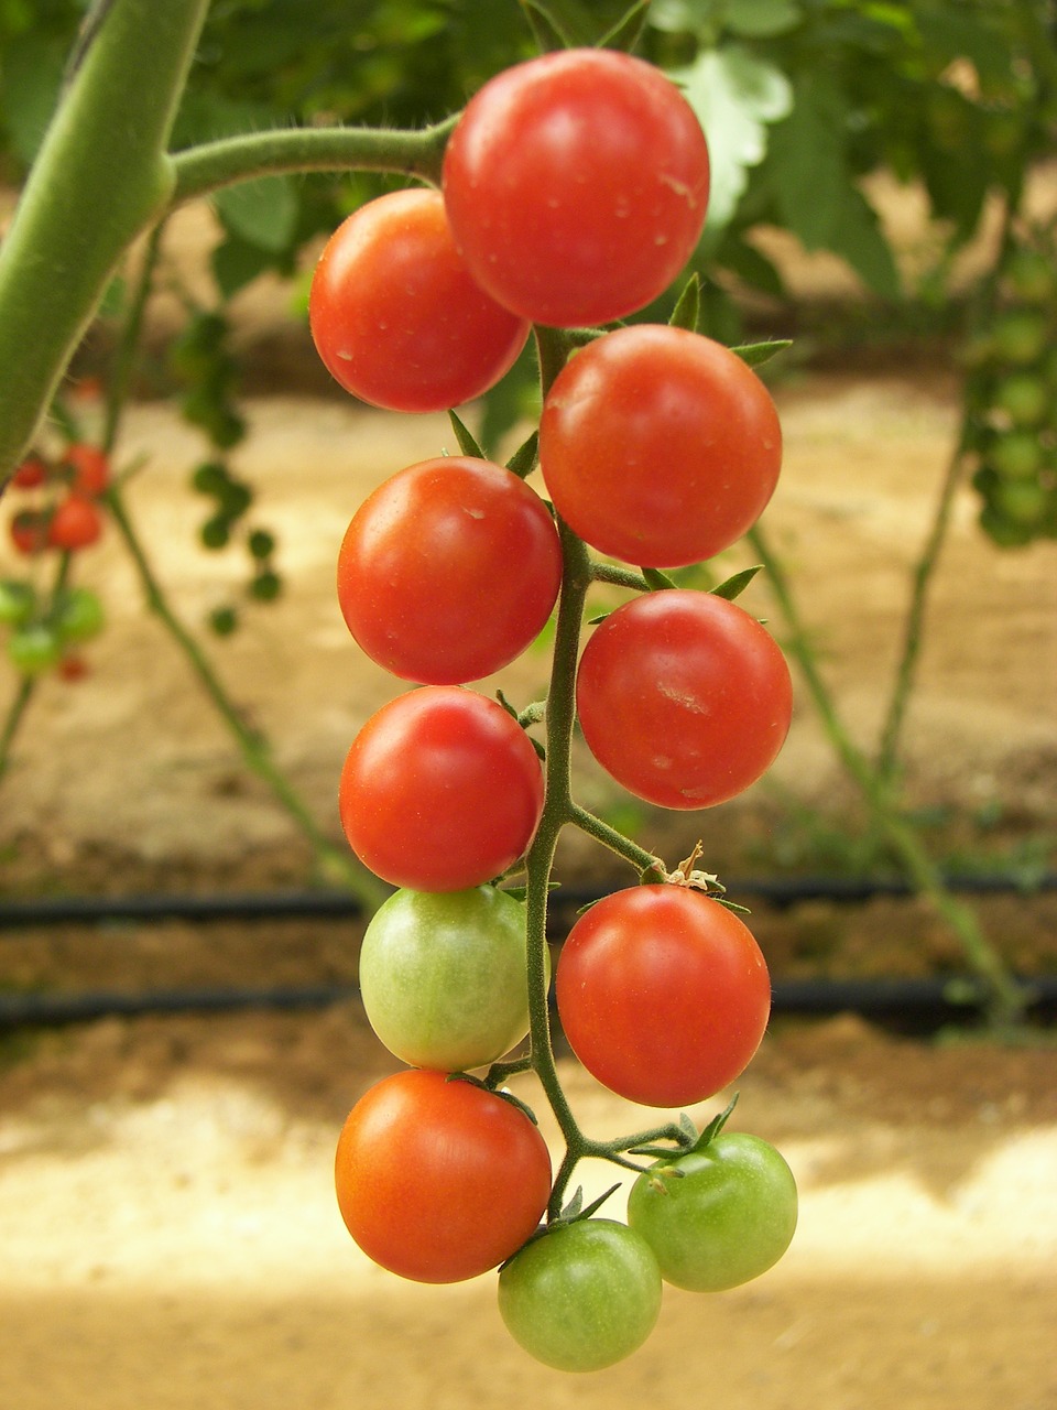
POLYGON ((661 808, 709 808, 774 761, 792 681, 774 637, 737 603, 667 588, 595 629, 576 706, 588 749, 629 792, 661 808))

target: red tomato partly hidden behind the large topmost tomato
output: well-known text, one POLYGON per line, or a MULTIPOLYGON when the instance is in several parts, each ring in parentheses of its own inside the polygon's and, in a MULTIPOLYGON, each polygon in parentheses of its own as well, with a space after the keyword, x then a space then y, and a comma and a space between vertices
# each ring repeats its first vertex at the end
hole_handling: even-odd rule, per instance
POLYGON ((338 226, 313 275, 309 321, 331 376, 393 412, 481 396, 528 337, 469 276, 435 190, 379 196, 338 226))

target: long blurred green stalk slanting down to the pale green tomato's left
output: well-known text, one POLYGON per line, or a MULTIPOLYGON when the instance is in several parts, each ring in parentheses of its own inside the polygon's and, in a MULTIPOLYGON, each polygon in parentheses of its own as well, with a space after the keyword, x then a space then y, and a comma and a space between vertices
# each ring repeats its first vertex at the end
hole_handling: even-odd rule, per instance
POLYGON ((388 888, 383 887, 372 873, 355 864, 341 847, 337 847, 323 833, 290 781, 276 766, 268 742, 256 730, 249 729, 241 718, 221 685, 220 678, 213 670, 206 653, 169 606, 147 553, 144 551, 135 529, 132 527, 120 489, 111 488, 107 495, 107 502, 111 517, 124 539, 132 563, 135 564, 148 609, 162 622, 186 657, 187 664, 199 678, 206 695, 238 744, 242 761, 251 773, 256 774, 256 777, 268 785, 276 801, 297 823, 299 829, 311 843, 317 862, 327 878, 333 880, 335 884, 347 887, 365 908, 375 909, 389 894, 388 888))

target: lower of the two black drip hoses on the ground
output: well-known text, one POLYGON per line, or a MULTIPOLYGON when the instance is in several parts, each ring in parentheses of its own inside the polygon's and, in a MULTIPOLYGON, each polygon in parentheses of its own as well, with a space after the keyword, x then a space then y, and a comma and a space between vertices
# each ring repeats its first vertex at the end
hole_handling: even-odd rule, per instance
MULTIPOLYGON (((1029 1017, 1057 1018, 1057 976, 1027 979, 1029 1017)), ((968 976, 922 979, 778 980, 772 991, 775 1017, 860 1014, 913 1031, 977 1021, 968 976)), ((142 993, 0 994, 0 1029, 58 1026, 97 1018, 147 1014, 209 1014, 240 1010, 320 1010, 359 1000, 352 984, 307 984, 276 988, 161 988, 142 993)))

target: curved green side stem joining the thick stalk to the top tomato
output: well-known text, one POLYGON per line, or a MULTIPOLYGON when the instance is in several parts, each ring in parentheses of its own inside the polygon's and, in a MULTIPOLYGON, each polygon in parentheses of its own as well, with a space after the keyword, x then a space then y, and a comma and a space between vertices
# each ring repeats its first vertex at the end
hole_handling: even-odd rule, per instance
POLYGON ((444 147, 458 114, 421 131, 295 127, 248 133, 176 152, 172 207, 235 182, 285 172, 395 172, 440 183, 444 147))

